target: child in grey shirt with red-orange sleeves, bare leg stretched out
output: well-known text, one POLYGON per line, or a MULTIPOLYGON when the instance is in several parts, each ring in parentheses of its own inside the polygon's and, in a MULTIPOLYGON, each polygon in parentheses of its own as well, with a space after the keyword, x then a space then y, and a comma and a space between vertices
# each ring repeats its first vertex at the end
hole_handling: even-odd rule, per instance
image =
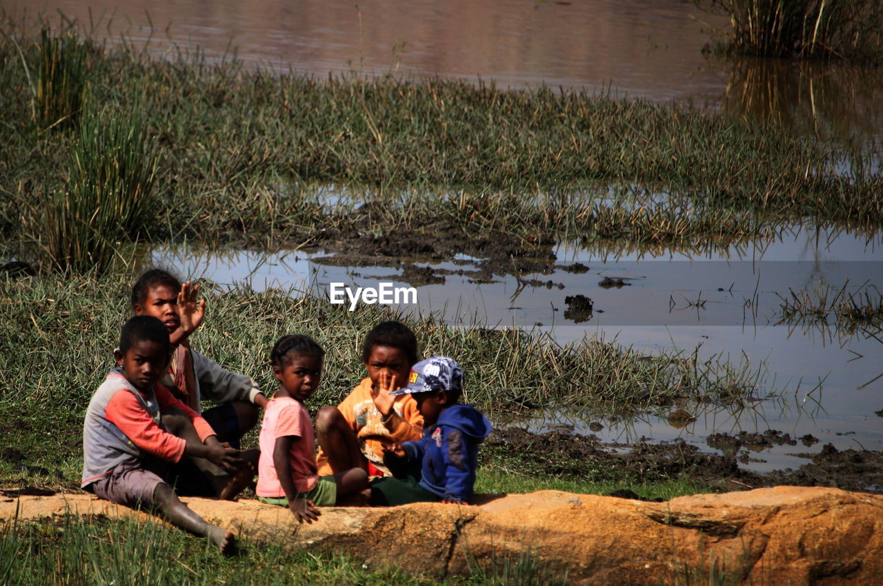
POLYGON ((238 450, 219 442, 205 419, 156 384, 170 353, 169 332, 159 319, 136 316, 123 326, 114 351, 117 368, 95 391, 86 412, 82 487, 113 503, 153 508, 166 521, 230 553, 233 536, 178 500, 163 479, 162 461, 187 458, 217 492, 232 498, 235 481, 224 470, 245 466, 238 450))

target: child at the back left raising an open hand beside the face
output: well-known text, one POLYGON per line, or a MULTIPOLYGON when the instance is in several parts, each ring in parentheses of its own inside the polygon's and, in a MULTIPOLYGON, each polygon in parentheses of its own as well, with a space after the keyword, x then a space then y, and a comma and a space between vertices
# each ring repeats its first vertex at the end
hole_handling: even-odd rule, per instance
POLYGON ((217 432, 218 439, 239 447, 239 439, 258 422, 258 408, 267 397, 251 377, 223 369, 215 361, 190 348, 189 336, 205 316, 205 299, 197 301, 199 285, 184 286, 161 269, 142 274, 132 286, 132 311, 152 315, 169 330, 174 354, 169 372, 160 382, 181 402, 200 413, 217 432), (202 413, 202 401, 217 407, 202 413))

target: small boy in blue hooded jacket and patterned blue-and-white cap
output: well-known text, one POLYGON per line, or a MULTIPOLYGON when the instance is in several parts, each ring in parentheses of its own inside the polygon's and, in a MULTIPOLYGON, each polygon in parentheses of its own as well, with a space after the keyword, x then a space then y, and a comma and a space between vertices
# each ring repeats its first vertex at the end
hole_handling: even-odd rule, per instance
POLYGON ((453 358, 434 356, 411 369, 408 385, 381 377, 389 394, 413 394, 423 416, 423 438, 384 447, 384 464, 393 477, 371 486, 372 505, 441 501, 467 504, 472 499, 479 444, 491 432, 487 418, 458 402, 463 370, 453 358))

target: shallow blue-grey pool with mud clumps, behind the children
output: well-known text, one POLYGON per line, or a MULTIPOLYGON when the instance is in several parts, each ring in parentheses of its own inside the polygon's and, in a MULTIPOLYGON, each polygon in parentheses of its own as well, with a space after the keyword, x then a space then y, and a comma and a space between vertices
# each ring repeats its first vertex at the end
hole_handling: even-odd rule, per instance
MULTIPOLYGON (((419 263, 443 276, 443 282, 416 286, 417 304, 398 304, 405 311, 437 312, 450 323, 522 327, 549 334, 559 342, 592 336, 633 345, 645 353, 681 349, 687 355, 744 364, 759 373, 758 396, 740 409, 699 409, 683 424, 668 422, 669 409, 630 418, 552 412, 521 423, 532 430, 572 424, 577 432, 595 433, 606 441, 685 439, 706 451, 717 451, 711 433, 788 433, 797 441, 748 448, 743 466, 759 472, 797 468, 798 452, 819 452, 826 443, 838 449, 883 450, 883 342, 864 334, 811 324, 778 325, 782 297, 789 291, 839 290, 876 295, 883 289, 883 238, 795 229, 763 245, 703 254, 653 257, 636 252, 591 252, 560 245, 558 266, 542 274, 494 275, 475 282, 476 259, 419 263), (560 266, 578 262, 588 270, 573 273, 560 266), (463 271, 464 274, 457 274, 463 271), (447 274, 443 274, 447 273, 447 274), (630 283, 604 288, 605 277, 630 283), (531 283, 532 282, 532 283, 531 283), (830 289, 828 289, 830 288, 830 289), (590 297, 590 316, 569 312, 565 298, 590 297), (600 423, 590 431, 589 425, 600 423)), ((292 289, 329 298, 331 283, 355 289, 410 286, 394 267, 336 267, 323 264, 323 252, 232 251, 192 252, 162 249, 156 261, 182 267, 182 272, 224 284, 248 282, 254 289, 292 289)), ((326 257, 327 258, 327 257, 326 257)), ((347 302, 348 303, 348 302, 347 302)), ((674 408, 671 408, 674 409, 674 408)))

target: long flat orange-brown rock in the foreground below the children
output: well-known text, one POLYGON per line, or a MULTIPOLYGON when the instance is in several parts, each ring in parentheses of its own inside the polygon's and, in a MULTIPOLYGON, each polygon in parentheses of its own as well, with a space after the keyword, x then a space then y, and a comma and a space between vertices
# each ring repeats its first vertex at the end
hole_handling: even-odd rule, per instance
MULTIPOLYGON (((439 577, 520 561, 584 584, 883 584, 883 496, 778 486, 664 503, 543 491, 480 506, 327 508, 298 525, 283 507, 185 499, 253 539, 343 551, 369 565, 439 577), (731 583, 731 582, 727 582, 731 583)), ((0 502, 0 517, 135 515, 83 494, 0 502)))

